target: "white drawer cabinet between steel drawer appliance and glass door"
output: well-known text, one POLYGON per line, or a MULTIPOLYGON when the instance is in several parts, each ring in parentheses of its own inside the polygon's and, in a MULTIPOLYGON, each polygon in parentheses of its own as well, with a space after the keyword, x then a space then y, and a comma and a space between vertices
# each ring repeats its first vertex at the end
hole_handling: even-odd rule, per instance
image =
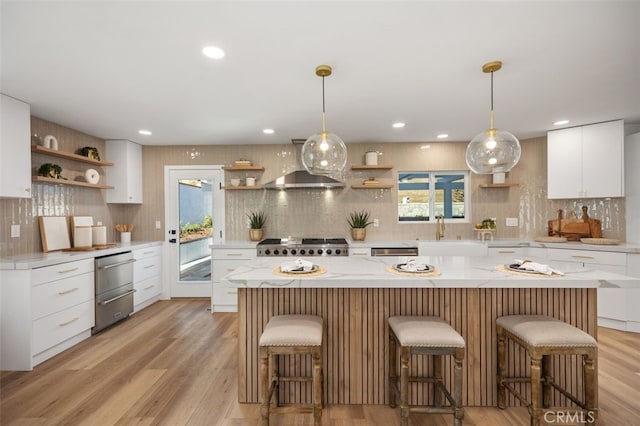
POLYGON ((162 292, 162 246, 133 250, 133 311, 138 312, 160 299, 162 292))

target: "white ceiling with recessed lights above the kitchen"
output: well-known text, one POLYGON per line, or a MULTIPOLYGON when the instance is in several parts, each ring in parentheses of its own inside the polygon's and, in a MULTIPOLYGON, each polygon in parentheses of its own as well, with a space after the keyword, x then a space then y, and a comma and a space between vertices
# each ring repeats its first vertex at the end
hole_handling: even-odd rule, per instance
POLYGON ((492 60, 496 127, 520 139, 560 119, 640 123, 639 1, 3 0, 1 12, 1 91, 105 139, 306 139, 321 129, 319 64, 333 67, 327 129, 347 144, 470 140, 489 126, 492 60))

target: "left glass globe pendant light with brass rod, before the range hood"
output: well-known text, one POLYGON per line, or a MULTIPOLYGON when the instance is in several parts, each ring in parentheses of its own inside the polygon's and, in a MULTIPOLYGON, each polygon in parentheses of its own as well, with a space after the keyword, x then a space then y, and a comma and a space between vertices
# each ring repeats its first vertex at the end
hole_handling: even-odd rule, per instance
POLYGON ((322 77, 322 131, 310 136, 302 145, 302 164, 312 175, 339 177, 347 165, 347 147, 338 135, 327 132, 324 105, 324 78, 331 75, 329 65, 318 65, 322 77))

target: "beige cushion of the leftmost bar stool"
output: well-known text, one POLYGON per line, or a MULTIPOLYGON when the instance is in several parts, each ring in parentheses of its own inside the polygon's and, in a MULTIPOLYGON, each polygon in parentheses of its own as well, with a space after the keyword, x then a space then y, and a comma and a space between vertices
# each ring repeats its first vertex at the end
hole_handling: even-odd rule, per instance
POLYGON ((320 346, 322 318, 315 315, 272 317, 260 336, 260 346, 320 346))

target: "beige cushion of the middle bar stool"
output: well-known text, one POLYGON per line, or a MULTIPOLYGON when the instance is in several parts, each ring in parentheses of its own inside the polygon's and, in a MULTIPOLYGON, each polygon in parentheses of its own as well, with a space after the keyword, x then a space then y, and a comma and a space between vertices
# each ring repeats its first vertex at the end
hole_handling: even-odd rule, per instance
POLYGON ((464 348, 464 339, 446 321, 429 316, 389 318, 389 326, 401 346, 421 348, 464 348))

